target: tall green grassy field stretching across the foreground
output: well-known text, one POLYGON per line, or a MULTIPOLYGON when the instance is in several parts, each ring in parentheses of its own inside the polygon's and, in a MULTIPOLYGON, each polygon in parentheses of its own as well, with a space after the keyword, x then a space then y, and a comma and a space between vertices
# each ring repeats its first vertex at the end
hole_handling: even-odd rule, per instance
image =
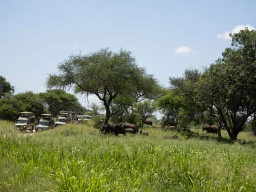
POLYGON ((90 124, 20 133, 0 120, 0 191, 256 191, 256 138, 230 142, 145 126, 149 136, 90 124), (163 140, 166 134, 178 139, 163 140))

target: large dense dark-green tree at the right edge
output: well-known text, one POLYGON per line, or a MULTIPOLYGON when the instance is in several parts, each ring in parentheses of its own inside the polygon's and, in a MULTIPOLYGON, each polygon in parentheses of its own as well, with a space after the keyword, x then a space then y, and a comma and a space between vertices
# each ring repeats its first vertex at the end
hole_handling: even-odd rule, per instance
POLYGON ((204 72, 196 98, 236 140, 256 112, 256 31, 245 29, 230 36, 231 47, 204 72))

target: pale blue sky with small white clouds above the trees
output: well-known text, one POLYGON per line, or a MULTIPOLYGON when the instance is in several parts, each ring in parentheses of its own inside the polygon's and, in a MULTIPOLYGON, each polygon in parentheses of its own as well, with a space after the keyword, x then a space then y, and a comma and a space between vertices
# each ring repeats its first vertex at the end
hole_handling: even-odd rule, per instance
POLYGON ((110 47, 132 51, 138 66, 169 87, 169 77, 221 57, 228 33, 255 29, 255 7, 254 0, 0 0, 0 75, 15 93, 44 92, 48 74, 69 55, 110 47))

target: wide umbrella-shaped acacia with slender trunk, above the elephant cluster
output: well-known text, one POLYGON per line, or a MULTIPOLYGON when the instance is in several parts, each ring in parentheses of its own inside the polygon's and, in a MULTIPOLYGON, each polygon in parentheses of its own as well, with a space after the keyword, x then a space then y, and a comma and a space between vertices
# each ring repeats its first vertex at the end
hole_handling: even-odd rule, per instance
POLYGON ((74 85, 74 93, 96 95, 105 106, 105 124, 110 118, 110 104, 119 94, 142 100, 155 97, 159 90, 156 79, 123 49, 117 53, 106 48, 89 55, 71 55, 58 65, 58 70, 47 78, 47 87, 74 85))

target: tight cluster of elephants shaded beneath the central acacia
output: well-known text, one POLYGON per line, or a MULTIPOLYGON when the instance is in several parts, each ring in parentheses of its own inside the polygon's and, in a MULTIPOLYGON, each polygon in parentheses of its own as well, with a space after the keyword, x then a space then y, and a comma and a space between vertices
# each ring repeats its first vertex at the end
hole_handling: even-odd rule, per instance
MULTIPOLYGON (((111 133, 111 134, 115 134, 116 136, 118 136, 119 134, 126 135, 126 132, 129 132, 131 134, 137 134, 138 127, 137 125, 131 124, 129 122, 120 122, 119 125, 105 124, 102 126, 99 132, 103 132, 104 134, 111 133)), ((140 131, 140 134, 148 135, 148 132, 143 130, 143 131, 140 131)))

